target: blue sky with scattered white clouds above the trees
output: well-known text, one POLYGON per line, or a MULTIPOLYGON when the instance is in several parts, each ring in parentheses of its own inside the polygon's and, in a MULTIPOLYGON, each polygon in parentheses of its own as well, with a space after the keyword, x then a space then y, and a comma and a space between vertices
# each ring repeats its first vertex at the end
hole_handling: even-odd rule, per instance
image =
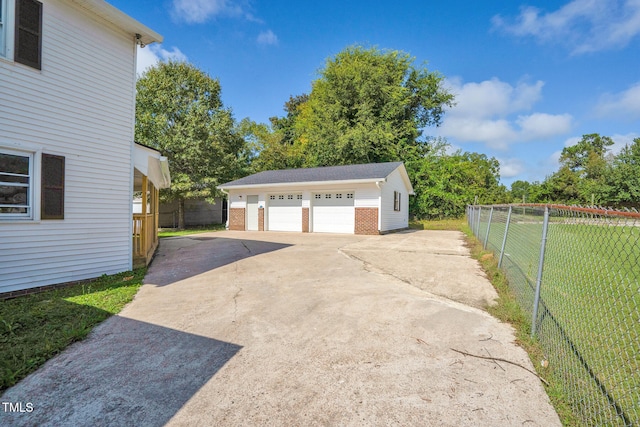
POLYGON ((327 58, 402 50, 446 77, 457 105, 427 135, 496 157, 502 182, 543 180, 583 134, 640 136, 640 0, 109 0, 164 36, 142 71, 185 59, 218 78, 236 119, 283 115, 327 58))

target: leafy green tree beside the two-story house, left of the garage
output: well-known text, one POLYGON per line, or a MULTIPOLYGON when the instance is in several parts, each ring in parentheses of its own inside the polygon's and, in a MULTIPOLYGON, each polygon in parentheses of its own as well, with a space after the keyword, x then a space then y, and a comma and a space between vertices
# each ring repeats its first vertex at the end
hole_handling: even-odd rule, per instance
POLYGON ((236 132, 231 110, 222 105, 220 83, 186 62, 160 62, 136 83, 137 142, 169 159, 171 188, 165 200, 184 201, 219 195, 216 186, 246 168, 245 142, 236 132))

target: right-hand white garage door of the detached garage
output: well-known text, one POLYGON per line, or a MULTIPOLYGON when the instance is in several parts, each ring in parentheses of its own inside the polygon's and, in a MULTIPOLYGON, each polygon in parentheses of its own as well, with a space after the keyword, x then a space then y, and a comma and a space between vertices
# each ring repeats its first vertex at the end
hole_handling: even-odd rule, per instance
POLYGON ((353 191, 316 193, 311 203, 313 203, 314 233, 353 234, 355 232, 353 191))

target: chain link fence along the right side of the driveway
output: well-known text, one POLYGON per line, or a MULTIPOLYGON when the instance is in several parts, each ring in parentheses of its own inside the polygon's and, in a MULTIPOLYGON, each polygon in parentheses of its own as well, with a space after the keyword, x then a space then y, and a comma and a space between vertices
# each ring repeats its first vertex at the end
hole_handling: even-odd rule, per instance
POLYGON ((640 426, 640 214, 468 206, 584 425, 640 426))

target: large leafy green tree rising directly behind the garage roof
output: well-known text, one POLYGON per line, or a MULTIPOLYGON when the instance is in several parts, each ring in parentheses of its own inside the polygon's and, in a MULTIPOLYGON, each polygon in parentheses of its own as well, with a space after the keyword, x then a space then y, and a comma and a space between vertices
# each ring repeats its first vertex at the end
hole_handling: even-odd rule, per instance
POLYGON ((296 118, 305 165, 415 156, 421 129, 439 125, 452 105, 442 81, 399 51, 351 46, 328 59, 296 118))

